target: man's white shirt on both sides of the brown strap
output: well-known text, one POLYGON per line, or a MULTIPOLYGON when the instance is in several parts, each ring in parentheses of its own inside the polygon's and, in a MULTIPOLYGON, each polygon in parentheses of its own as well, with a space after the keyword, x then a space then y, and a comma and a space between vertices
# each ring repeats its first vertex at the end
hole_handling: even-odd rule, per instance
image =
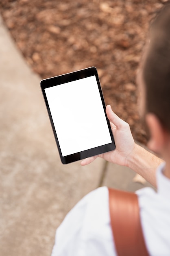
MULTIPOLYGON (((170 180, 157 169, 157 192, 136 191, 150 256, 170 256, 170 180)), ((87 194, 56 231, 52 256, 117 256, 110 226, 107 187, 87 194)))

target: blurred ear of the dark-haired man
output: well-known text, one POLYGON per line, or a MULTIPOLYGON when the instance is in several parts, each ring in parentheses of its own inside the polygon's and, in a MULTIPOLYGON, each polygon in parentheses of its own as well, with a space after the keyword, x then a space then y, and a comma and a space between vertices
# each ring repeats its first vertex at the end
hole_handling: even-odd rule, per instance
POLYGON ((146 124, 150 131, 150 140, 148 148, 156 153, 161 154, 167 142, 167 132, 163 128, 161 122, 156 115, 148 113, 146 115, 146 124))

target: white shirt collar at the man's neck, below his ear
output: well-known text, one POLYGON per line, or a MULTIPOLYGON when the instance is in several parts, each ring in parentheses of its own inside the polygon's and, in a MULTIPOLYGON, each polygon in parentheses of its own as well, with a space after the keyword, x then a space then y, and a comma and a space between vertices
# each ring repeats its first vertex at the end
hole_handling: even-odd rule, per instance
POLYGON ((157 192, 163 198, 170 199, 170 179, 163 174, 165 166, 166 163, 163 162, 157 168, 157 192))

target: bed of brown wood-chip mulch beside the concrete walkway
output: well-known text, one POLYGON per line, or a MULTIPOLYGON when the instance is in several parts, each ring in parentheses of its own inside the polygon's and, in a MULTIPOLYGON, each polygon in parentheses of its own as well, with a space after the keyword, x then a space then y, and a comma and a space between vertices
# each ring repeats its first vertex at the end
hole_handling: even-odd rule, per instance
POLYGON ((1 0, 0 12, 42 78, 95 66, 106 104, 145 144, 135 73, 149 21, 161 5, 158 0, 1 0))

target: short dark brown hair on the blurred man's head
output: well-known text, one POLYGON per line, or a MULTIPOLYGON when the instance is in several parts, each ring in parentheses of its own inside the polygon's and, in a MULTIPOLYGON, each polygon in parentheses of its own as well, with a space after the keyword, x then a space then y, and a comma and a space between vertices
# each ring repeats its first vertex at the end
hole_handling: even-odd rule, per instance
POLYGON ((143 67, 146 112, 154 113, 170 131, 170 1, 151 23, 149 39, 143 67))

